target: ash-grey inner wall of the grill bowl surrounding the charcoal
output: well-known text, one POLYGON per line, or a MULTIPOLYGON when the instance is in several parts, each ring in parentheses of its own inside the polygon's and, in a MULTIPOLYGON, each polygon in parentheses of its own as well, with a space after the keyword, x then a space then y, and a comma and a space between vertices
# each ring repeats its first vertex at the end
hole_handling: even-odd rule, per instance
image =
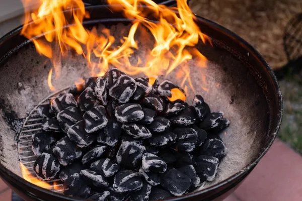
MULTIPOLYGON (((124 25, 113 29, 116 30, 115 33, 121 33, 121 28, 124 28, 124 25)), ((231 122, 225 134, 221 134, 228 154, 219 166, 221 170, 216 179, 210 183, 212 185, 242 170, 259 154, 268 130, 269 114, 262 89, 239 60, 217 47, 202 45, 200 48, 210 61, 206 71, 208 91, 204 91, 200 86, 200 68, 194 66, 192 61, 191 78, 196 93, 202 94, 213 112, 223 111, 224 116, 231 122)), ((143 51, 137 53, 144 54, 143 51)), ((61 79, 53 81, 54 86, 59 86, 58 89, 71 85, 78 77, 89 77, 87 63, 82 56, 70 56, 67 61, 63 61, 63 66, 61 79)), ((33 45, 25 46, 5 63, 0 64, 0 99, 5 105, 0 111, 3 150, 0 163, 19 176, 21 169, 17 143, 14 141, 15 131, 5 120, 7 111, 14 112, 18 118, 25 118, 34 106, 52 93, 47 85, 50 68, 51 63, 36 53, 33 45)), ((167 79, 176 84, 181 82, 180 79, 175 79, 175 72, 167 79)), ((189 102, 194 95, 195 93, 188 94, 189 102)))

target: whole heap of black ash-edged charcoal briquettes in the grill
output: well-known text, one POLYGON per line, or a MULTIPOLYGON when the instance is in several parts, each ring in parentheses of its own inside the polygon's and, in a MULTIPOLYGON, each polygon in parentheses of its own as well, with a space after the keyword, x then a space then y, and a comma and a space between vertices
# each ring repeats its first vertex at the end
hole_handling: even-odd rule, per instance
POLYGON ((157 200, 212 181, 226 148, 217 135, 230 122, 171 102, 176 84, 131 78, 118 69, 89 78, 41 105, 42 132, 32 138, 37 177, 60 178, 64 194, 90 200, 157 200))

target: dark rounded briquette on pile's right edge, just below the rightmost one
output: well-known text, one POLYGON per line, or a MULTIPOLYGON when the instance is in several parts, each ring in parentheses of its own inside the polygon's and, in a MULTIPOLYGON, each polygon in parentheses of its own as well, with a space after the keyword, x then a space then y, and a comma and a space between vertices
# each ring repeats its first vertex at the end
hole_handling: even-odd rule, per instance
POLYGON ((218 158, 219 160, 222 159, 225 153, 226 147, 224 143, 218 139, 209 139, 205 141, 202 147, 202 154, 213 156, 215 158, 218 158))

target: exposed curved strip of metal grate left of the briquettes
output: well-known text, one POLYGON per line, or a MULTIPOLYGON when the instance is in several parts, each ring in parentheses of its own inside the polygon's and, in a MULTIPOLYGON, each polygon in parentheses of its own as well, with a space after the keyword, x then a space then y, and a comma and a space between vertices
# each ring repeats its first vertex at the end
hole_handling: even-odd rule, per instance
MULTIPOLYGON (((37 156, 35 156, 34 152, 32 151, 32 136, 42 130, 41 125, 43 120, 43 118, 41 118, 37 113, 37 109, 41 105, 48 104, 52 97, 55 97, 57 96, 57 94, 66 91, 68 88, 69 87, 58 90, 47 96, 36 107, 34 107, 34 109, 29 113, 29 115, 24 121, 23 127, 18 138, 18 157, 19 161, 28 169, 29 173, 27 175, 31 180, 38 179, 35 176, 35 172, 33 170, 33 165, 37 159, 37 156)), ((48 186, 46 189, 59 193, 63 192, 63 190, 61 189, 63 183, 60 179, 53 179, 45 182, 50 184, 50 186, 48 186)))

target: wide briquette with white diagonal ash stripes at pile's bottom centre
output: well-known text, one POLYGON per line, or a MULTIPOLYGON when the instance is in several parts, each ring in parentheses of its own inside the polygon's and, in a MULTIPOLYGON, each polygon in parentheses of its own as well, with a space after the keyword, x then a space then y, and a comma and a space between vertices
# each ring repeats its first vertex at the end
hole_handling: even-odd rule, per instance
POLYGON ((140 190, 142 187, 140 174, 132 170, 120 171, 116 173, 112 187, 117 192, 133 192, 140 190))

